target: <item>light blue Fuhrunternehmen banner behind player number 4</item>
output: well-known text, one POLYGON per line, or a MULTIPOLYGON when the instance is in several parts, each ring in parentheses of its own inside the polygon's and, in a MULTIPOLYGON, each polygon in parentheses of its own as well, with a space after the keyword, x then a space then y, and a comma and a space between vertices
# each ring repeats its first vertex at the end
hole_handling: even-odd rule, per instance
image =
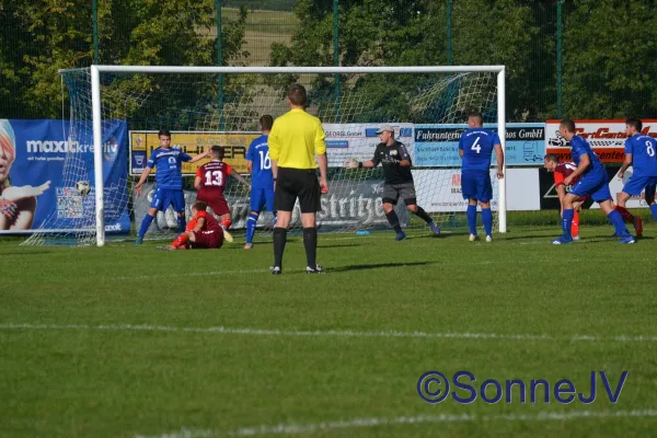
MULTIPOLYGON (((497 130, 497 124, 484 127, 497 130)), ((415 161, 418 166, 459 166, 459 139, 468 125, 415 125, 415 161)), ((514 123, 506 126, 507 165, 542 165, 545 124, 514 123)), ((497 162, 493 153, 493 164, 497 162)))

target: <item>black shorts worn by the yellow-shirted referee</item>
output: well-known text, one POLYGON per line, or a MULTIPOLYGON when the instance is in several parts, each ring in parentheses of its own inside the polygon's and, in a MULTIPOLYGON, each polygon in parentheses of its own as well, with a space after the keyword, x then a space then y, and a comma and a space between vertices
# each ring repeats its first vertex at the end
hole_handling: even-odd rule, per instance
POLYGON ((278 211, 292 211, 297 198, 301 212, 320 211, 320 182, 314 169, 278 168, 274 207, 278 211))

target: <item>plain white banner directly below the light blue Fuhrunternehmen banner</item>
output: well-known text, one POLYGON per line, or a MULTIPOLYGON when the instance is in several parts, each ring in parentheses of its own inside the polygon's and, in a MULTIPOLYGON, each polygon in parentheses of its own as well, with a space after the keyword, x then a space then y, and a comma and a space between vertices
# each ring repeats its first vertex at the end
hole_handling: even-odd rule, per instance
MULTIPOLYGON (((497 194, 497 171, 491 170, 493 192, 497 194)), ((541 209, 541 191, 538 169, 507 169, 507 210, 525 211, 541 209)), ((461 194, 461 170, 414 170, 417 204, 426 211, 465 211, 468 201, 461 194)), ((497 196, 491 208, 497 210, 497 196)))

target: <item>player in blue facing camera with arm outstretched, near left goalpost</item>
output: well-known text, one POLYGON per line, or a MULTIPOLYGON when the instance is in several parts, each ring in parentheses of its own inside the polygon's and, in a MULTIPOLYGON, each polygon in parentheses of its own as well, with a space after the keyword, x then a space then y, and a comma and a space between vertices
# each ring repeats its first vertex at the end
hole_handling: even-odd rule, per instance
POLYGON ((151 222, 155 218, 158 211, 165 211, 173 204, 173 209, 178 214, 178 232, 185 231, 185 196, 183 193, 183 162, 193 163, 206 158, 210 150, 204 153, 191 157, 185 152, 171 147, 171 132, 162 129, 158 132, 160 147, 151 152, 148 163, 139 182, 135 185, 137 196, 141 195, 141 187, 146 178, 150 174, 151 169, 155 168, 155 192, 148 215, 143 217, 139 234, 135 241, 136 245, 143 242, 143 235, 148 231, 151 222))

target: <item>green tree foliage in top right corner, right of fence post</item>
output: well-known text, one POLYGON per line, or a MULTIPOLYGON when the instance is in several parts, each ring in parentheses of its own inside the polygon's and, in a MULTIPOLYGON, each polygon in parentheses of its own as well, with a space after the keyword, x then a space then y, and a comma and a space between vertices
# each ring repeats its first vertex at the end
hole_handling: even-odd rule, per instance
POLYGON ((657 12, 653 3, 574 2, 564 32, 564 107, 568 117, 657 115, 657 12))

